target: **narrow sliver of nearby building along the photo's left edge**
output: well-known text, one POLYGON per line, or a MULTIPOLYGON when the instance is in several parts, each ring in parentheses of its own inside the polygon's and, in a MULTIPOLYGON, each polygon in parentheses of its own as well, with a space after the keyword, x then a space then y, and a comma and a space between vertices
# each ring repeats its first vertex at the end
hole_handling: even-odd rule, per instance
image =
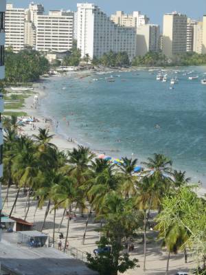
MULTIPOLYGON (((0 1, 0 80, 5 76, 4 67, 4 44, 5 44, 5 1, 0 1)), ((0 177, 3 176, 3 133, 1 124, 1 113, 3 113, 3 94, 0 91, 0 177)), ((1 181, 0 181, 0 241, 1 241, 1 210, 2 210, 2 199, 1 199, 1 181)), ((1 263, 0 263, 1 273, 1 263)))

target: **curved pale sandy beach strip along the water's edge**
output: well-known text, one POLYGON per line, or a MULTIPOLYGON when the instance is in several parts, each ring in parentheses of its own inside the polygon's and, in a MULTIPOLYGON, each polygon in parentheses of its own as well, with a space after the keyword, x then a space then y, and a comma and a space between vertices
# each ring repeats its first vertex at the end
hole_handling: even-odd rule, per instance
MULTIPOLYGON (((138 68, 138 69, 142 69, 142 68, 138 68)), ((125 72, 125 71, 122 71, 122 72, 125 72)), ((126 71, 128 72, 128 71, 126 71)), ((100 74, 107 74, 107 73, 111 73, 111 71, 109 72, 98 72, 100 74)), ((95 75, 97 74, 97 72, 95 71, 83 71, 83 72, 69 72, 69 74, 66 74, 67 76, 68 75, 71 75, 71 77, 75 77, 75 76, 84 76, 84 75, 87 75, 87 74, 91 74, 91 75, 95 75)), ((60 75, 61 77, 63 77, 64 75, 60 75)), ((52 78, 52 77, 51 77, 52 78)), ((47 80, 49 80, 50 78, 47 78, 47 80)), ((53 118, 48 118, 46 117, 46 115, 44 115, 42 112, 41 112, 41 100, 43 98, 45 98, 48 94, 49 94, 49 91, 41 88, 41 86, 43 87, 43 83, 34 83, 33 84, 33 87, 34 87, 34 91, 33 91, 33 94, 31 94, 31 96, 29 96, 28 98, 25 99, 25 107, 21 108, 21 109, 18 109, 18 110, 15 110, 15 111, 25 111, 27 113, 28 116, 32 115, 36 118, 38 118, 38 120, 40 120, 40 122, 37 122, 38 124, 36 126, 41 127, 41 128, 47 128, 49 129, 49 132, 54 135, 53 139, 52 139, 52 142, 58 146, 58 148, 62 151, 71 151, 73 148, 77 148, 78 145, 84 145, 84 144, 80 144, 80 142, 78 142, 78 140, 75 140, 74 142, 71 142, 69 140, 67 140, 67 138, 64 136, 64 134, 62 133, 57 133, 56 132, 56 129, 55 129, 55 121, 53 118), (38 107, 36 109, 32 109, 31 106, 33 104, 33 100, 34 100, 34 95, 35 94, 38 94, 38 102, 40 102, 40 104, 38 104, 38 107), (47 122, 45 123, 45 118, 51 120, 50 122, 47 122)), ((11 110, 12 111, 12 110, 11 110)), ((37 128, 37 131, 38 131, 38 128, 37 128)), ((24 126, 23 127, 23 132, 26 134, 26 135, 33 135, 33 134, 36 134, 36 131, 32 131, 30 129, 30 125, 29 126, 24 126), (34 133, 33 133, 34 132, 34 133)), ((100 155, 104 152, 106 152, 106 150, 100 150, 100 149, 96 149, 96 148, 91 148, 91 151, 93 153, 95 153, 96 155, 100 155)), ((109 152, 109 155, 111 157, 115 157, 115 151, 107 151, 109 152)), ((116 152, 117 155, 119 153, 116 152)), ((116 156, 117 157, 117 156, 116 156)), ((141 159, 142 161, 142 159, 141 159)), ((192 173, 188 173, 187 172, 187 175, 188 176, 191 176, 192 173)), ((193 176, 194 177, 194 176, 193 176)), ((205 181, 203 181, 204 184, 206 184, 205 181)), ((192 184, 192 183, 191 183, 192 184)), ((203 184, 200 184, 199 187, 196 188, 197 190, 197 193, 198 195, 204 195, 206 193, 206 186, 203 187, 203 184)))

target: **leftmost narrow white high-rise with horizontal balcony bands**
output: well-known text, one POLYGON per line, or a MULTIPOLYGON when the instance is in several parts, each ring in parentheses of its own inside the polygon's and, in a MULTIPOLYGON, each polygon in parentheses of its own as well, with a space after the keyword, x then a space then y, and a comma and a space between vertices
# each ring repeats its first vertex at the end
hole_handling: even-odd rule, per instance
POLYGON ((5 11, 5 47, 12 47, 14 52, 23 50, 25 9, 6 5, 5 11))

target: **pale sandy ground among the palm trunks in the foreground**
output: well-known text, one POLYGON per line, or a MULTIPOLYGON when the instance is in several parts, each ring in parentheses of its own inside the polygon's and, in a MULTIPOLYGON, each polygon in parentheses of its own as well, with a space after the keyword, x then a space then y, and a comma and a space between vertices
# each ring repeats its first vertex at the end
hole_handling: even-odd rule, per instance
MULTIPOLYGON (((2 188, 2 195, 5 196, 5 187, 2 188)), ((16 189, 10 188, 10 195, 8 199, 8 205, 5 204, 3 208, 3 212, 9 214, 10 209, 12 207, 12 203, 16 196, 16 189)), ((25 208, 25 196, 23 192, 21 192, 20 197, 16 203, 16 209, 13 212, 14 217, 24 218, 24 208, 25 208)), ((36 210, 36 201, 32 201, 30 212, 27 217, 27 221, 34 222, 34 229, 40 230, 41 225, 43 223, 44 213, 45 213, 45 206, 40 210, 36 211, 36 217, 34 220, 34 212, 36 210)), ((60 220, 62 219, 63 210, 59 209, 56 211, 56 234, 55 240, 56 244, 59 238, 58 233, 58 225, 60 224, 60 220)), ((71 220, 70 228, 69 228, 69 247, 77 248, 82 252, 93 252, 94 248, 97 248, 95 242, 100 239, 100 233, 96 232, 95 230, 99 227, 100 223, 94 223, 93 219, 89 221, 89 226, 87 230, 86 241, 84 245, 82 245, 82 236, 84 234, 85 228, 85 221, 87 219, 87 214, 84 214, 84 218, 80 217, 80 213, 77 212, 77 219, 76 221, 71 220)), ((60 232, 66 235, 67 230, 67 217, 64 217, 62 228, 60 232)), ((52 241, 52 233, 53 233, 53 212, 49 212, 47 217, 47 223, 45 225, 45 230, 43 231, 48 233, 51 236, 52 241)), ((147 253, 147 262, 146 262, 146 272, 143 271, 143 261, 144 261, 144 254, 143 254, 143 245, 138 244, 135 245, 135 250, 131 253, 132 257, 135 257, 139 260, 139 268, 135 270, 128 270, 126 275, 161 275, 165 274, 165 266, 166 266, 166 259, 167 255, 165 252, 159 248, 157 243, 151 242, 148 243, 148 253, 147 253)), ((192 261, 192 257, 188 257, 187 264, 184 263, 183 254, 179 253, 177 255, 172 255, 170 259, 170 272, 168 274, 176 274, 177 271, 187 271, 194 267, 194 262, 192 261)))

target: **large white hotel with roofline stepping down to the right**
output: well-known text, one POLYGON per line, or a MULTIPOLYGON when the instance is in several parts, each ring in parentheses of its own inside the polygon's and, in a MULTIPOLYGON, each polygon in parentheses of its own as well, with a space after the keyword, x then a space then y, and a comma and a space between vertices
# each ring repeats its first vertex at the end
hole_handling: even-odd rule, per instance
POLYGON ((127 52, 135 56, 136 31, 116 25, 92 3, 78 3, 78 48, 82 57, 100 58, 104 53, 127 52))

